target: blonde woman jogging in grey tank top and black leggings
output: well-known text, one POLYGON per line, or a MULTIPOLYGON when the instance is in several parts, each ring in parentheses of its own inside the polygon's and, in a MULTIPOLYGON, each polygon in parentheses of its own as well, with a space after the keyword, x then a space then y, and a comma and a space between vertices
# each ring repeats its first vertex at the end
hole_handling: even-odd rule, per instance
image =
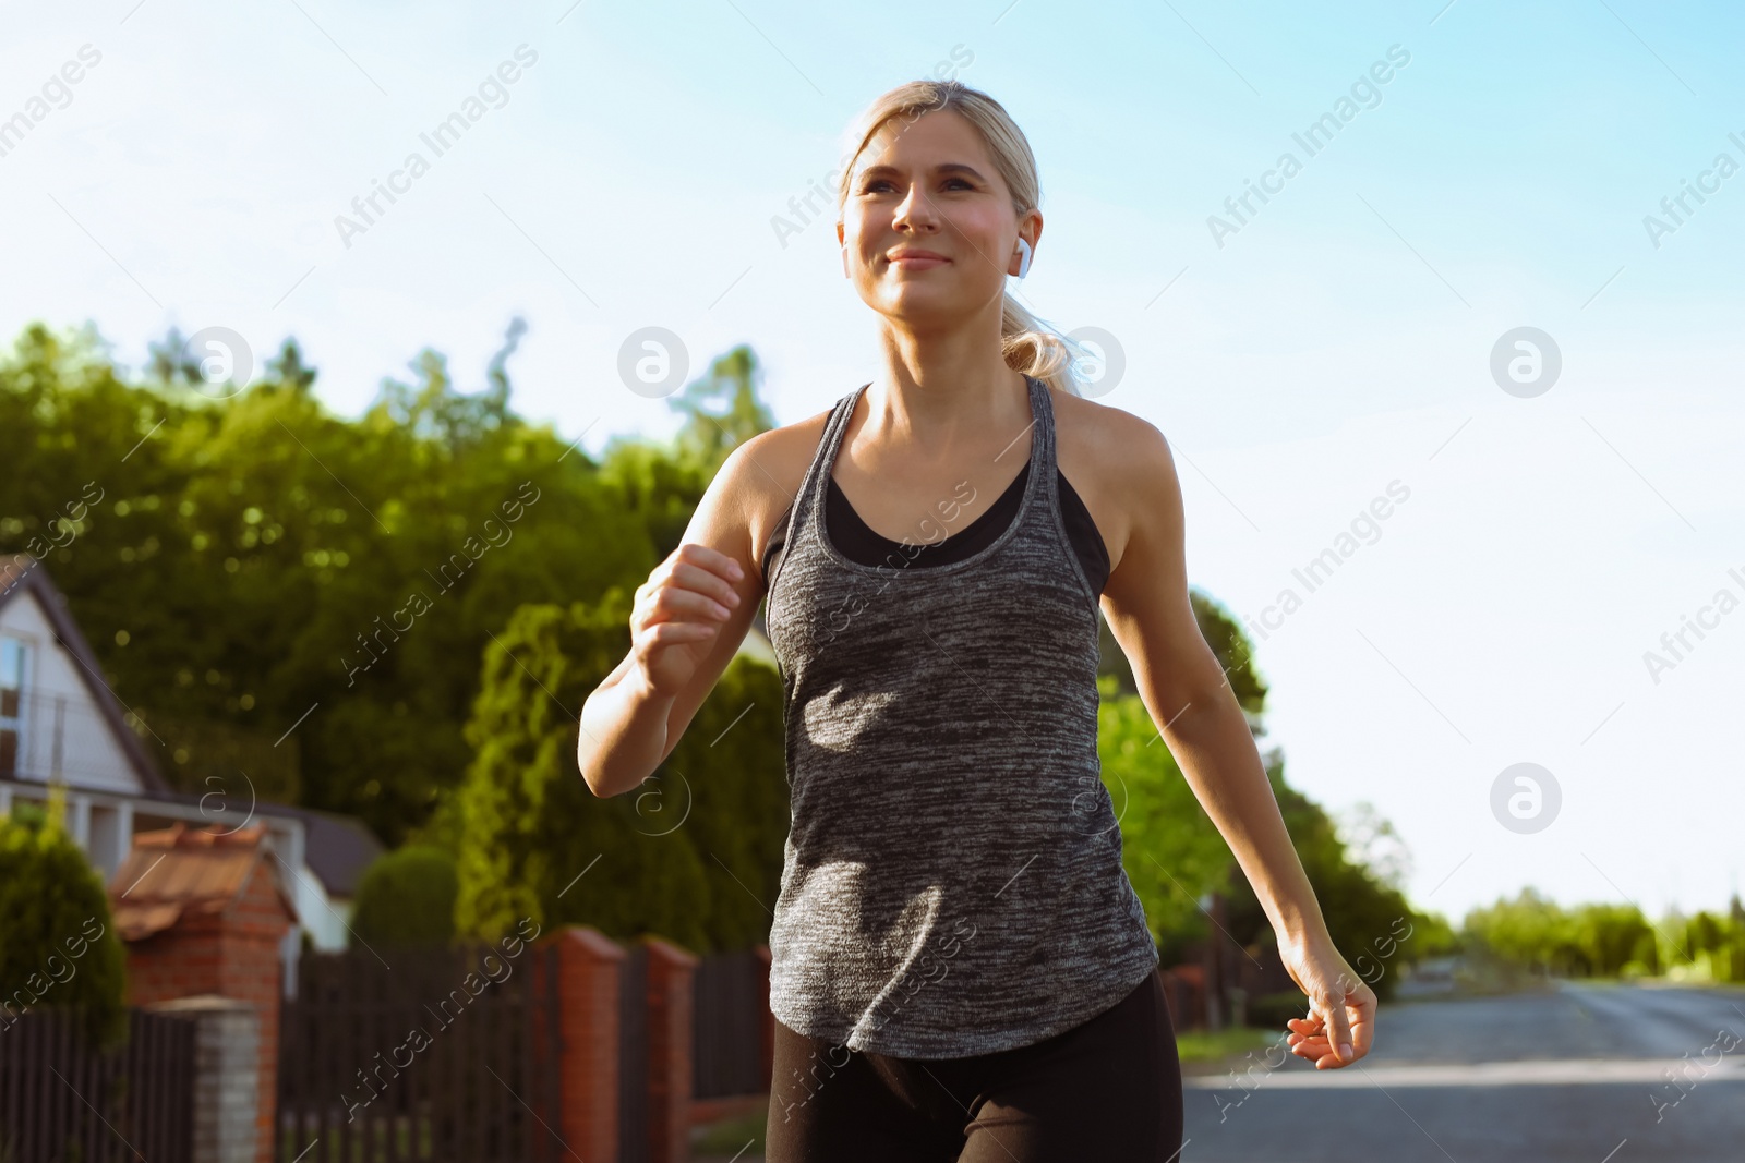
POLYGON ((728 457, 637 589, 581 772, 647 778, 768 593, 792 797, 768 1158, 1173 1160, 1174 1032, 1098 774, 1099 605, 1312 1001, 1293 1053, 1361 1058, 1375 994, 1195 626, 1169 445, 1080 398, 1005 291, 1042 235, 1023 133, 913 82, 852 143, 836 234, 879 375, 728 457))

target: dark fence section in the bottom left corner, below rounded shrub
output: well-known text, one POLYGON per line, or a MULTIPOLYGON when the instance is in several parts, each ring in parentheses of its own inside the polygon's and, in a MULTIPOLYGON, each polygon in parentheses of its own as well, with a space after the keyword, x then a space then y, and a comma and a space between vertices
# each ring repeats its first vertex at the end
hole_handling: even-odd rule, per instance
POLYGON ((126 1044, 98 1051, 79 1010, 33 1010, 0 1030, 0 1160, 192 1158, 194 1022, 127 1011, 126 1044))

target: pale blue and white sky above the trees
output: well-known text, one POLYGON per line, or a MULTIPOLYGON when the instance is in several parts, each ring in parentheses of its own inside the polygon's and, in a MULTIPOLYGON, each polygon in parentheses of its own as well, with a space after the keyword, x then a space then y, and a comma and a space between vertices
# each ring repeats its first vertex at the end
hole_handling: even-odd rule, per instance
POLYGON ((258 375, 295 337, 356 415, 424 347, 483 387, 522 317, 515 406, 599 452, 675 429, 618 371, 658 326, 691 377, 749 343, 792 424, 878 373, 834 216, 792 206, 872 98, 956 77, 1037 153, 1012 286, 1119 345, 1096 398, 1169 439, 1291 783, 1373 804, 1454 919, 1724 908, 1745 10, 1319 9, 12 5, 0 338, 89 321, 140 368, 225 328, 258 375))

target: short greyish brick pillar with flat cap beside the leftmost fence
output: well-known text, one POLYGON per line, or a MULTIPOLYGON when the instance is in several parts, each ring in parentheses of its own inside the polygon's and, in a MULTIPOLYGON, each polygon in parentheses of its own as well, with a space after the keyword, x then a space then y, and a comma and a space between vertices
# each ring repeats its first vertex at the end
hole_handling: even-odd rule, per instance
POLYGON ((194 1154, 188 1163, 260 1158, 260 1013, 246 1001, 201 994, 145 1006, 194 1022, 194 1154))

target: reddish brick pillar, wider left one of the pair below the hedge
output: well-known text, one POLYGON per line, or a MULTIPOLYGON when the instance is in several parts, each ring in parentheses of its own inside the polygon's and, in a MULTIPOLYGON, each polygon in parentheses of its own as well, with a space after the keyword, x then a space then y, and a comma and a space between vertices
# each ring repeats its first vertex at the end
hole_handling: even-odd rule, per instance
POLYGON ((592 926, 569 926, 541 945, 558 950, 558 1133, 583 1160, 618 1158, 618 968, 625 950, 592 926))

